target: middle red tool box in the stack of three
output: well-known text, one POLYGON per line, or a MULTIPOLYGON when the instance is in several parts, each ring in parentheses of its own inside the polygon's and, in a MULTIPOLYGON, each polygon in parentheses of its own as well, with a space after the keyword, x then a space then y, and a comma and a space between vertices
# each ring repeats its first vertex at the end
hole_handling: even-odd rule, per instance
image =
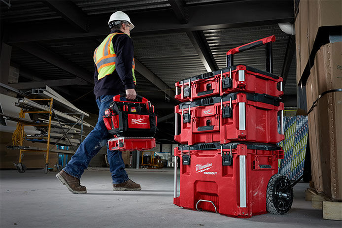
POLYGON ((277 115, 284 108, 280 100, 265 94, 232 93, 181 103, 174 108, 177 123, 174 140, 187 145, 280 142, 284 139, 277 131, 277 115))

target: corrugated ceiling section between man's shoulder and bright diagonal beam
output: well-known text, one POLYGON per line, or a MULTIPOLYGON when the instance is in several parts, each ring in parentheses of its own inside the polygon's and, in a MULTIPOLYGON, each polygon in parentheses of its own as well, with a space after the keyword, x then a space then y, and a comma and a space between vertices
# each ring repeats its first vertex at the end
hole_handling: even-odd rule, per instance
POLYGON ((186 33, 133 37, 135 56, 172 89, 184 78, 206 72, 186 33))

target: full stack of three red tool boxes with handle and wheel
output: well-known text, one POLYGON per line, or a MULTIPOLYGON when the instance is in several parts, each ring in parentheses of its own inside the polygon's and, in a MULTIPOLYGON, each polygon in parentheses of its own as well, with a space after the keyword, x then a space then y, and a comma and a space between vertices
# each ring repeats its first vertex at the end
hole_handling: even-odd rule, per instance
POLYGON ((241 218, 290 210, 291 183, 277 174, 284 104, 282 78, 272 73, 274 41, 269 36, 231 49, 226 68, 175 83, 182 103, 174 109, 174 139, 182 145, 174 150, 175 161, 180 158, 174 204, 241 218), (234 54, 262 45, 266 71, 233 65, 234 54))

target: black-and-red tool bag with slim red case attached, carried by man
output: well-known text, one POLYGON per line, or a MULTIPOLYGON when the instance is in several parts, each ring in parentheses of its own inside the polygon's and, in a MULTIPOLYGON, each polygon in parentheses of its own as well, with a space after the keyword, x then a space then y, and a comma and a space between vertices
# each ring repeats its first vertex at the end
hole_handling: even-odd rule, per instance
POLYGON ((124 96, 126 94, 115 96, 104 111, 104 124, 109 134, 114 136, 108 140, 109 149, 133 151, 154 148, 157 130, 154 106, 139 95, 135 100, 120 100, 124 96))

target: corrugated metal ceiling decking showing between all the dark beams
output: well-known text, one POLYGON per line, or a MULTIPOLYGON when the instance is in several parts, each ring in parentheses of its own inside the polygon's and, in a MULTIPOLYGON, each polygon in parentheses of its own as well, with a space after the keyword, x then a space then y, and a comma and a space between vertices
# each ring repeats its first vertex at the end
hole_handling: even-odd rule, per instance
MULTIPOLYGON (((101 15, 106 18, 107 15, 122 10, 129 14, 134 12, 159 11, 164 12, 171 10, 169 0, 71 0, 87 17, 88 23, 91 18, 101 15), (106 15, 107 14, 107 15, 106 15)), ((185 0, 185 6, 205 7, 206 5, 225 2, 243 2, 239 0, 222 1, 222 0, 185 0)), ((242 4, 242 3, 241 3, 242 4)), ((170 18, 170 20, 174 20, 170 18)), ((44 1, 38 0, 12 0, 11 7, 8 9, 1 2, 1 25, 6 26, 18 25, 18 22, 36 21, 37 23, 50 25, 50 23, 63 22, 64 26, 69 29, 72 25, 66 24, 66 19, 61 14, 56 13, 44 1), (8 25, 7 25, 8 24, 8 25)), ((34 22, 35 23, 35 22, 34 22)), ((33 24, 34 24, 33 23, 33 24)), ((134 23, 134 22, 133 22, 134 23)), ((25 25, 25 24, 23 24, 25 25)), ((56 25, 56 24, 54 24, 56 25)), ((151 27, 153 24, 151 24, 151 27)), ((168 24, 166 24, 168 26, 168 24)), ((108 30, 109 32, 109 30, 108 30)), ((239 45, 264 38, 274 34, 276 41, 273 48, 274 56, 274 73, 281 74, 288 35, 283 33, 277 24, 230 28, 230 29, 211 29, 200 31, 204 35, 203 41, 208 49, 208 54, 213 62, 219 67, 226 66, 226 52, 239 45)), ((135 45, 135 58, 148 68, 153 74, 161 79, 167 86, 174 89, 174 83, 184 78, 195 76, 207 72, 202 62, 198 49, 194 47, 194 41, 189 39, 189 33, 186 31, 171 31, 171 33, 159 31, 158 33, 133 33, 132 38, 135 45)), ((102 35, 101 35, 102 36, 102 35)), ((202 36, 202 35, 201 35, 202 36)), ((81 37, 81 36, 78 36, 81 37)), ((104 38, 104 37, 103 37, 104 38)), ((93 52, 99 40, 99 35, 87 36, 83 38, 70 37, 68 39, 49 39, 49 41, 33 42, 41 45, 51 53, 57 54, 68 63, 77 67, 81 67, 89 72, 90 77, 94 72, 93 52)), ((44 40, 44 39, 42 39, 44 40)), ((31 41, 32 42, 32 41, 31 41)), ((30 44, 30 42, 28 42, 30 44)), ((19 45, 18 45, 19 46, 19 45)), ((43 80, 53 79, 69 79, 75 75, 63 70, 55 65, 50 64, 44 58, 40 59, 34 55, 12 46, 12 62, 20 65, 22 69, 28 70, 43 80)), ((259 69, 265 69, 265 51, 263 47, 259 47, 244 53, 237 54, 234 58, 235 64, 251 65, 259 69)), ((296 78, 295 78, 295 58, 289 70, 287 83, 285 86, 285 94, 296 94, 296 78)), ((150 79, 151 80, 151 79, 150 79)), ((22 81, 25 81, 22 80, 22 81)), ((151 80, 153 81, 153 80, 151 80)), ((92 85, 71 85, 65 86, 69 91, 75 91, 76 95, 85 94, 92 89, 92 85)), ((137 72, 137 91, 146 98, 165 98, 165 92, 160 86, 156 86, 147 80, 143 75, 137 72)), ((166 89, 166 91, 168 91, 166 89)))

